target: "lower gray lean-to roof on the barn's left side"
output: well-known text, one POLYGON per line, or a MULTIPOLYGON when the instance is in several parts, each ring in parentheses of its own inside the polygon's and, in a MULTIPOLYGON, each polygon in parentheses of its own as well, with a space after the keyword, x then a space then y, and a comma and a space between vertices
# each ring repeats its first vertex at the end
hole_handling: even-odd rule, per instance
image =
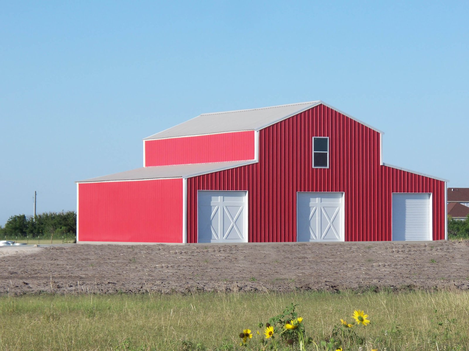
POLYGON ((190 176, 198 176, 201 174, 212 173, 223 169, 244 166, 250 161, 230 161, 230 162, 214 162, 214 163, 197 163, 190 165, 171 165, 171 166, 154 166, 136 168, 125 172, 114 173, 108 176, 96 177, 91 179, 80 180, 76 183, 91 182, 112 182, 122 180, 142 180, 142 179, 161 179, 161 178, 188 178, 190 176))

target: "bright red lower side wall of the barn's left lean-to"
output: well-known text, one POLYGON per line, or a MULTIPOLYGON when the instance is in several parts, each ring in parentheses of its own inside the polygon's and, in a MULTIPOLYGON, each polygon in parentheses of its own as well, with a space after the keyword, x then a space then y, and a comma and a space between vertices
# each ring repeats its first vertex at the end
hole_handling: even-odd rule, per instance
POLYGON ((78 184, 78 240, 182 242, 182 179, 78 184))

